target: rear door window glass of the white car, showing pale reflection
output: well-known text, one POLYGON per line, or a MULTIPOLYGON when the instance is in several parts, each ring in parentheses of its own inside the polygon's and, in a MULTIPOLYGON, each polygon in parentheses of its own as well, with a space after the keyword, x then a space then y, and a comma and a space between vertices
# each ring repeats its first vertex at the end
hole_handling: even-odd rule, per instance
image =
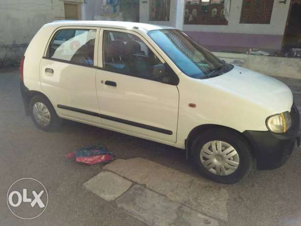
POLYGON ((56 32, 47 56, 84 66, 94 66, 96 30, 63 29, 56 32))

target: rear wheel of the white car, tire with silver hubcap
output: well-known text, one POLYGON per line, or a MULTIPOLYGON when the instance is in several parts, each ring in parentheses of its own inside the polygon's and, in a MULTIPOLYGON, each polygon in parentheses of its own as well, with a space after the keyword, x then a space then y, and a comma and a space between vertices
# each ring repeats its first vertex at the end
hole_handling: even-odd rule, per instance
POLYGON ((29 111, 33 123, 41 130, 54 131, 62 123, 62 119, 57 116, 50 101, 42 95, 31 98, 29 111))

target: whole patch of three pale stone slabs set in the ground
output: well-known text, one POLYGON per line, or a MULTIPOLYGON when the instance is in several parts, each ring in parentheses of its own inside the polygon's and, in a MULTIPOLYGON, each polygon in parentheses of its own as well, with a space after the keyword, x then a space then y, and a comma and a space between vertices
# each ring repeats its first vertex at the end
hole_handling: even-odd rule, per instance
POLYGON ((100 172, 84 188, 107 201, 121 196, 117 207, 150 226, 218 226, 216 219, 227 221, 228 194, 214 182, 143 158, 117 159, 104 169, 111 172, 100 172), (128 189, 131 181, 137 184, 128 189))

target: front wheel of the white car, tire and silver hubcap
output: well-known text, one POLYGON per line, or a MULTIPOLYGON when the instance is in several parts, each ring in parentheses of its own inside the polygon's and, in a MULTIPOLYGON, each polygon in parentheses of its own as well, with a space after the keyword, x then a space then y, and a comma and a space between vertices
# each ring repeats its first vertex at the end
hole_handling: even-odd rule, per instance
POLYGON ((208 129, 194 140, 191 151, 200 174, 216 182, 236 183, 252 169, 249 144, 230 129, 208 129))

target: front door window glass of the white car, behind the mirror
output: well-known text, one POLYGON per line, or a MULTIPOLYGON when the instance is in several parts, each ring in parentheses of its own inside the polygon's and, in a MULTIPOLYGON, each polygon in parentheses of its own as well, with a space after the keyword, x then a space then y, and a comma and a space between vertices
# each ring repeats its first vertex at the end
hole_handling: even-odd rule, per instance
POLYGON ((107 71, 169 83, 173 71, 136 35, 103 33, 103 68, 107 71), (162 74, 160 74, 160 72, 162 74))

